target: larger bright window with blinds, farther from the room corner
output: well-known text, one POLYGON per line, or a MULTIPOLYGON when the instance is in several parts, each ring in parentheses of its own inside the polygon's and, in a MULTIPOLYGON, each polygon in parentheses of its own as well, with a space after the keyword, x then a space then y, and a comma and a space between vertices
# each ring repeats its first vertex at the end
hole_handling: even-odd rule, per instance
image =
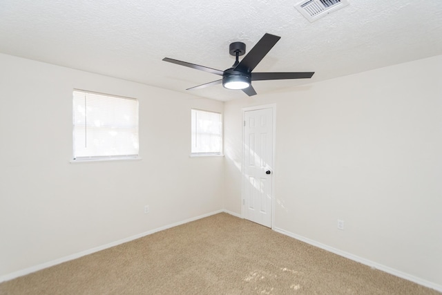
POLYGON ((74 91, 73 124, 74 160, 137 158, 137 99, 74 91))

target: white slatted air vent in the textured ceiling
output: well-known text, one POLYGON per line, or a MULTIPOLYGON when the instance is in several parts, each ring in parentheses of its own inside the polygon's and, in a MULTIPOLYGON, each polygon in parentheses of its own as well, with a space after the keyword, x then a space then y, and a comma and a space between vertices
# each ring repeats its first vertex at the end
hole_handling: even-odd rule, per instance
POLYGON ((349 5, 347 0, 305 0, 296 4, 295 8, 313 22, 347 5, 349 5))

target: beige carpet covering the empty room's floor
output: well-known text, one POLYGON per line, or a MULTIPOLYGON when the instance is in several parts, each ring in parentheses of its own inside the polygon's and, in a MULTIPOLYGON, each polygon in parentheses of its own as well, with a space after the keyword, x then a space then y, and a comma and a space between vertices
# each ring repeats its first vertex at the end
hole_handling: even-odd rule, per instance
POLYGON ((441 294, 220 213, 0 284, 0 294, 441 294))

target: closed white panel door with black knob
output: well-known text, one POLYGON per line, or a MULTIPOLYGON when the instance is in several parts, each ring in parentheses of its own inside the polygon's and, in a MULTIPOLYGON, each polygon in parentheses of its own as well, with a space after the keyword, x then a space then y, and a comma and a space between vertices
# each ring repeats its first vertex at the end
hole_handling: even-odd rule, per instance
POLYGON ((271 227, 273 109, 244 112, 244 218, 271 227))

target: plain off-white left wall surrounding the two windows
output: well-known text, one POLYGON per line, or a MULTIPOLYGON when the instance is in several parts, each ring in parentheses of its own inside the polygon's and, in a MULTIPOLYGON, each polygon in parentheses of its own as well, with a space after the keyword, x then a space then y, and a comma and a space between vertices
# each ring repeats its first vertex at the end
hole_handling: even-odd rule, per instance
POLYGON ((222 102, 8 55, 0 64, 0 278, 222 209, 224 159, 189 158, 191 108, 222 102), (70 164, 73 88, 139 100, 142 160, 70 164))

